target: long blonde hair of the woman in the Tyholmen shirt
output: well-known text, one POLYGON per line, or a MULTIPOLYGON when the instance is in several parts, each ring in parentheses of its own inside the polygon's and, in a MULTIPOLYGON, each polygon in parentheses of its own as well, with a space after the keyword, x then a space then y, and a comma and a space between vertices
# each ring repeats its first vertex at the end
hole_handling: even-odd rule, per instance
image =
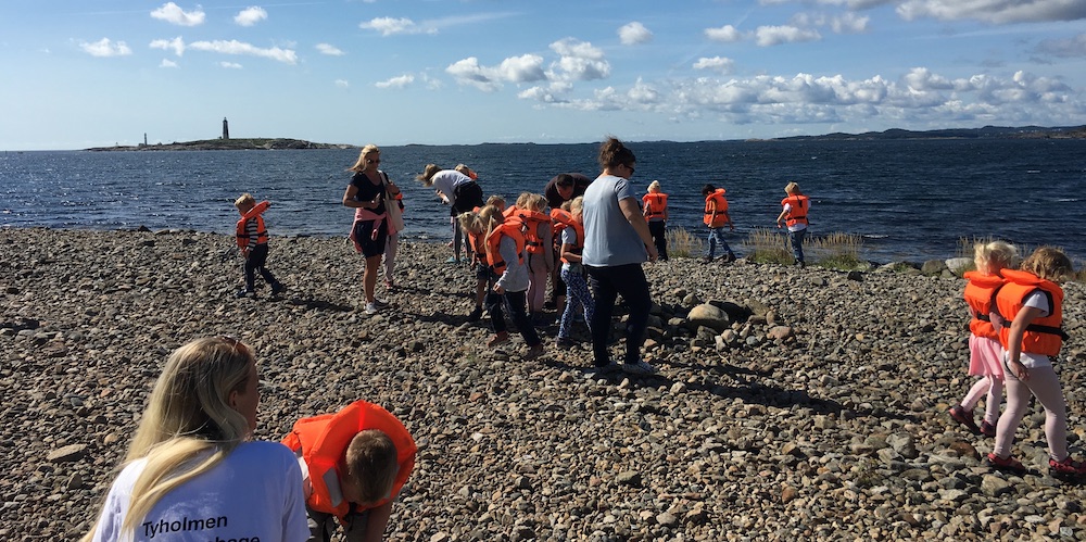
POLYGON ((132 486, 123 530, 134 530, 163 496, 213 468, 251 436, 245 416, 229 403, 231 392, 248 386, 251 363, 249 348, 227 337, 197 339, 169 356, 125 457, 125 465, 147 464, 132 486), (193 462, 202 455, 207 456, 193 462))

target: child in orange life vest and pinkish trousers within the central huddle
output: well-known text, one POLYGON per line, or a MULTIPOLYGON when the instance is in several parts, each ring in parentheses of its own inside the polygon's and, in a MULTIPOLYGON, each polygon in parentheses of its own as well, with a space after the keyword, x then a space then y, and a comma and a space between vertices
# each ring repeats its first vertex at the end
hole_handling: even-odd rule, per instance
POLYGON ((543 213, 546 199, 543 194, 525 192, 517 198, 515 215, 523 224, 526 256, 528 260, 528 313, 533 319, 543 312, 546 298, 546 279, 554 270, 554 244, 551 217, 543 213))

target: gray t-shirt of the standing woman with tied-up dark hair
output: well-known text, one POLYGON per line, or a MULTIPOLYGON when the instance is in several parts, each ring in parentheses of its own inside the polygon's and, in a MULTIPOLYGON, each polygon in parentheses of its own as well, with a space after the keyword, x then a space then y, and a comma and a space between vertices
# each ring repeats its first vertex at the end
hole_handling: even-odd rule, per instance
POLYGON ((613 267, 648 261, 645 243, 626 219, 618 202, 636 196, 630 181, 603 175, 584 191, 584 265, 613 267))

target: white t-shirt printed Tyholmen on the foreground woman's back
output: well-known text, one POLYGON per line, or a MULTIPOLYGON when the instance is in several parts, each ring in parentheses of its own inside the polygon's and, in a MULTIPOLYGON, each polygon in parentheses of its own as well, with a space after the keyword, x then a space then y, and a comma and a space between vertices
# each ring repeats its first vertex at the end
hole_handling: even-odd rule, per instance
POLYGON ((211 470, 155 503, 136 525, 135 538, 122 537, 132 486, 146 464, 132 462, 117 476, 91 540, 298 542, 310 537, 294 453, 265 441, 238 445, 211 470))

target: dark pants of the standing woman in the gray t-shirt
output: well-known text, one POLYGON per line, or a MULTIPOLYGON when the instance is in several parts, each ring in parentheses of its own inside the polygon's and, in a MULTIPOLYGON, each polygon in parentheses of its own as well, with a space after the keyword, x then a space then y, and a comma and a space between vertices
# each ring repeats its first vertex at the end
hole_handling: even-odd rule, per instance
POLYGON ((641 346, 645 343, 648 328, 648 311, 653 300, 648 292, 648 280, 641 264, 617 265, 614 267, 584 266, 589 272, 589 286, 596 301, 596 312, 592 315, 592 357, 597 367, 610 362, 607 342, 610 339, 611 313, 619 295, 630 307, 630 318, 626 324, 624 363, 641 361, 641 346))

